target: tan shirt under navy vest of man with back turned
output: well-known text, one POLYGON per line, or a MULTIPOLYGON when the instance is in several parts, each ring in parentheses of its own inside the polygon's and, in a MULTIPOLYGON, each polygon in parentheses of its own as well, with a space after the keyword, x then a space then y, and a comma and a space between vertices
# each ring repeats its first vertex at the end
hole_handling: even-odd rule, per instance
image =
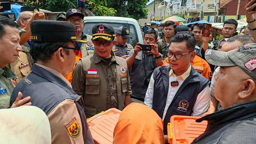
MULTIPOLYGON (((67 83, 70 87, 71 84, 65 79, 65 77, 48 67, 43 65, 37 64, 38 66, 46 69, 49 72, 52 72, 54 75, 61 78, 65 83, 67 83)), ((81 118, 77 111, 76 104, 74 100, 66 99, 57 105, 48 115, 50 126, 51 126, 51 133, 52 133, 52 144, 82 144, 84 143, 83 133, 82 133, 82 125, 81 125, 81 118), (67 127, 70 123, 73 125, 73 119, 76 119, 78 127, 80 128, 80 134, 76 137, 72 137, 70 135, 70 130, 67 127)))

